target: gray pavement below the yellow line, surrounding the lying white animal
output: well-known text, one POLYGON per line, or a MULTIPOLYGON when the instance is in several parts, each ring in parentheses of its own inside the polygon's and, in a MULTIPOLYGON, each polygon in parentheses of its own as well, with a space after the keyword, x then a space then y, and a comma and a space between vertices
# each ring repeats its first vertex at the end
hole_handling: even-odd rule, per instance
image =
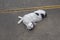
POLYGON ((48 17, 28 32, 18 15, 29 12, 0 14, 0 40, 60 40, 60 9, 46 10, 48 17))

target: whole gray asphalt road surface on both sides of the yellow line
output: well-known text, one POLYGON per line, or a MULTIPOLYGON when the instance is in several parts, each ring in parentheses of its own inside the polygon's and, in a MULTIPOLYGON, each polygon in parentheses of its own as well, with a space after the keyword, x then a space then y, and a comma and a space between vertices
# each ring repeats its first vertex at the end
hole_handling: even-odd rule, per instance
MULTIPOLYGON (((58 4, 60 0, 0 0, 0 9, 58 4)), ((60 40, 60 9, 46 10, 48 17, 28 32, 22 23, 17 24, 17 16, 30 12, 0 13, 0 40, 60 40)))

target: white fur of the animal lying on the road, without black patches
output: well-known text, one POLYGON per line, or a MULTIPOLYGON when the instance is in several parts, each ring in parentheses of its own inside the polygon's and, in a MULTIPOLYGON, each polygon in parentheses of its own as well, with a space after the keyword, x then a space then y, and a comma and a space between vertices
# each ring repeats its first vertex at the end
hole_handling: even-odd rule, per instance
POLYGON ((33 24, 36 25, 35 22, 42 20, 42 17, 40 14, 45 15, 45 13, 46 12, 44 10, 37 10, 32 13, 26 14, 23 17, 18 16, 18 18, 21 18, 21 20, 18 21, 18 24, 20 24, 23 21, 23 23, 27 26, 27 29, 31 29, 34 27, 33 24), (39 13, 39 16, 37 16, 35 13, 39 13))

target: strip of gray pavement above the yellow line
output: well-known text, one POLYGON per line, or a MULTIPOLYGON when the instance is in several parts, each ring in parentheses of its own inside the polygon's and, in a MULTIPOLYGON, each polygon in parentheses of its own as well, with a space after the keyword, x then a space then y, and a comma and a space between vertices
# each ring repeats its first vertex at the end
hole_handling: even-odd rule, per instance
POLYGON ((59 5, 60 0, 0 0, 0 9, 59 5))

